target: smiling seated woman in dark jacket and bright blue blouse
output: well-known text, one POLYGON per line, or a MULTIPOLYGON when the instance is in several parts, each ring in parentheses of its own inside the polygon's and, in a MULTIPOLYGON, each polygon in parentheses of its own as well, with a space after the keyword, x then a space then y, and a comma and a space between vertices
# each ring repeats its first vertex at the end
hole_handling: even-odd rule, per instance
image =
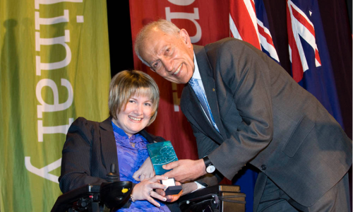
POLYGON ((159 100, 157 84, 146 73, 117 73, 109 86, 109 117, 104 122, 79 117, 68 129, 59 177, 61 192, 107 182, 110 165, 115 164, 119 180, 133 182, 131 201, 119 211, 170 211, 172 207, 163 203, 170 198, 153 191, 166 188, 160 184, 165 177, 154 176, 146 148, 147 143, 164 139, 144 130, 155 120, 159 100))

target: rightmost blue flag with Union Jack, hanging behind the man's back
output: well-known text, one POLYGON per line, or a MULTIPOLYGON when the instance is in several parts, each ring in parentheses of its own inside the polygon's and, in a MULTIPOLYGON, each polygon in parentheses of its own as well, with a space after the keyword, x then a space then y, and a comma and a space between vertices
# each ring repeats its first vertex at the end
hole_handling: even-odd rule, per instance
POLYGON ((342 125, 335 79, 316 0, 287 0, 292 76, 342 125))

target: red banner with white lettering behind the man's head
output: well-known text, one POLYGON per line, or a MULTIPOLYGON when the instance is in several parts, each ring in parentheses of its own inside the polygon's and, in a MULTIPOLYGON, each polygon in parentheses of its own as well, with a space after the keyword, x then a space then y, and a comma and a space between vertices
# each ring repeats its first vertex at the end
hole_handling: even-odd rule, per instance
MULTIPOLYGON (((131 33, 133 42, 138 31, 152 20, 164 18, 179 28, 185 28, 191 42, 205 45, 224 37, 229 37, 229 5, 212 0, 204 4, 201 0, 158 1, 130 0, 131 33), (210 9, 212 8, 212 9, 210 9)), ((179 98, 184 85, 177 85, 161 78, 143 65, 134 55, 135 69, 146 71, 160 88, 160 107, 157 119, 148 127, 148 131, 172 141, 179 159, 197 159, 196 141, 191 126, 179 108, 179 98)))

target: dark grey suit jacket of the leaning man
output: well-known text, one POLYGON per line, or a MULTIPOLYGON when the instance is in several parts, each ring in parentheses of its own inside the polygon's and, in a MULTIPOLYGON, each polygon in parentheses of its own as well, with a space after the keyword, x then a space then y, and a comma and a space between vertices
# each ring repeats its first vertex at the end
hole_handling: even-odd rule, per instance
POLYGON ((263 52, 227 38, 194 46, 218 133, 191 86, 181 95, 198 144, 232 179, 246 163, 299 204, 311 206, 352 164, 352 141, 316 98, 263 52))

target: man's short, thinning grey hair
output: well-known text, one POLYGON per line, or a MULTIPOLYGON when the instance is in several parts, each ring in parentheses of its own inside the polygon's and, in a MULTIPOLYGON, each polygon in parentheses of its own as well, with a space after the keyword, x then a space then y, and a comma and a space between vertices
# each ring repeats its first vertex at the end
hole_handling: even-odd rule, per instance
POLYGON ((163 33, 167 33, 168 35, 174 35, 174 36, 179 36, 179 32, 180 32, 180 29, 176 25, 174 25, 174 23, 165 19, 160 19, 160 20, 148 23, 148 25, 145 25, 140 30, 140 32, 136 36, 134 49, 138 59, 140 59, 143 62, 143 64, 147 65, 148 67, 150 67, 150 64, 148 64, 147 61, 142 59, 142 57, 140 56, 139 49, 141 45, 143 45, 143 42, 145 42, 146 38, 148 38, 150 31, 155 28, 157 28, 158 30, 161 30, 163 33))

